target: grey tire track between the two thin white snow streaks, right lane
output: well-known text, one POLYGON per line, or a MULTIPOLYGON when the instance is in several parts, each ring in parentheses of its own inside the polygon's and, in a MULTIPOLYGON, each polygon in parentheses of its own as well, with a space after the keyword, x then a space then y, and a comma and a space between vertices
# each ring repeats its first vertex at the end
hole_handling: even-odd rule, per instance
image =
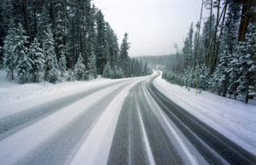
POLYGON ((155 116, 152 107, 143 93, 143 86, 137 88, 137 103, 141 110, 143 123, 150 148, 152 149, 154 162, 156 164, 184 164, 181 156, 178 155, 172 139, 169 139, 158 118, 155 116))

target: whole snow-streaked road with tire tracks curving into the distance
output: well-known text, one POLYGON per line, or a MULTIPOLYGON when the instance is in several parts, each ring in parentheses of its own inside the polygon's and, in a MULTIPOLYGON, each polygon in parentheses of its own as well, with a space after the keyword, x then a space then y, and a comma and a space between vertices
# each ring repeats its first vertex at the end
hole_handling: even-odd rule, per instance
POLYGON ((0 164, 255 164, 161 94, 157 76, 81 88, 0 118, 0 164))

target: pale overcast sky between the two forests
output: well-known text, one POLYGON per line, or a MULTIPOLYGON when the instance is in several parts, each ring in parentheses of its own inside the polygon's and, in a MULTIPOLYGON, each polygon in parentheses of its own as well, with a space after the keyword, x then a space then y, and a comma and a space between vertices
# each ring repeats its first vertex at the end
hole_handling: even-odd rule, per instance
POLYGON ((131 57, 175 53, 191 22, 200 17, 201 0, 93 0, 121 43, 129 34, 131 57))

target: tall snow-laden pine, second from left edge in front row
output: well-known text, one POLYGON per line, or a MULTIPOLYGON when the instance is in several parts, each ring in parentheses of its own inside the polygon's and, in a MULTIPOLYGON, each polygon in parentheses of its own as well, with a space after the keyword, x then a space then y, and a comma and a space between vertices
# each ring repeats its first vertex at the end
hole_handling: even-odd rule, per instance
POLYGON ((32 59, 28 56, 28 50, 26 45, 28 44, 28 37, 25 35, 26 31, 21 24, 16 29, 15 39, 18 42, 14 46, 14 54, 18 57, 16 63, 16 71, 19 77, 20 83, 27 83, 28 73, 32 69, 32 59))

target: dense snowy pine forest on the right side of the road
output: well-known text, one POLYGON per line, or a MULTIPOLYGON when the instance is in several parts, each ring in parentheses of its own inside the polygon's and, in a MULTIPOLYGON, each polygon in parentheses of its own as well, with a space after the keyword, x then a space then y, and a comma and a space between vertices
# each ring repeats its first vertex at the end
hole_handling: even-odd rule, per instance
POLYGON ((168 56, 163 73, 171 83, 201 88, 247 102, 256 94, 255 1, 203 0, 183 48, 168 56), (202 11, 201 11, 202 13, 202 11), (203 22, 203 20, 205 20, 203 22))

